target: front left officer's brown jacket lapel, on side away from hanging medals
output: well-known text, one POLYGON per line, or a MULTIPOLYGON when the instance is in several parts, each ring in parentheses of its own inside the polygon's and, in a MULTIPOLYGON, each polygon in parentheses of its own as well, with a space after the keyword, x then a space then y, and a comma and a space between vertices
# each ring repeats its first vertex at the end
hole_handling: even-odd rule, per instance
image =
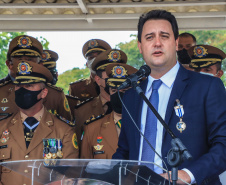
POLYGON ((9 127, 9 132, 11 132, 14 137, 15 142, 20 146, 23 151, 26 151, 26 144, 24 138, 24 127, 21 122, 20 112, 18 112, 14 118, 11 120, 11 126, 9 127))

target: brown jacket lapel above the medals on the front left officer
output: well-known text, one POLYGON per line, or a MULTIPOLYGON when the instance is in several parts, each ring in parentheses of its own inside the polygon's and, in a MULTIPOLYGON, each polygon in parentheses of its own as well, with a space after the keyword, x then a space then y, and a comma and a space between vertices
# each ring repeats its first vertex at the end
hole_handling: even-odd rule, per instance
POLYGON ((49 128, 51 125, 53 125, 53 120, 47 110, 45 110, 44 115, 35 130, 34 137, 29 144, 27 153, 35 149, 40 143, 42 143, 42 139, 46 138, 50 133, 52 133, 52 129, 49 128))

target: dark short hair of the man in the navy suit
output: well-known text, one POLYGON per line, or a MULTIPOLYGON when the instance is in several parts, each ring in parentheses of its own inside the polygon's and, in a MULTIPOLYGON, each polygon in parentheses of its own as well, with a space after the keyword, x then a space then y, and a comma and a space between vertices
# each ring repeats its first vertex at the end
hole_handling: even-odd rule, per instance
POLYGON ((178 31, 177 21, 176 21, 176 18, 174 17, 174 15, 165 10, 152 10, 152 11, 150 11, 146 14, 142 14, 140 16, 140 19, 138 22, 138 41, 139 42, 141 42, 141 34, 143 31, 144 23, 148 20, 167 20, 167 21, 169 21, 172 26, 175 40, 177 40, 179 31, 178 31))

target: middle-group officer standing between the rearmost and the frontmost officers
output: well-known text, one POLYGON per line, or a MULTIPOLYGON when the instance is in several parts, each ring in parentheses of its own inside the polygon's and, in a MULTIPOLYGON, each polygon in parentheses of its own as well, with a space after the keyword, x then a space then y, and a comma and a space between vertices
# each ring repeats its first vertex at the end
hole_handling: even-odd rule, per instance
POLYGON ((105 88, 105 78, 107 77, 105 69, 107 65, 111 63, 126 62, 126 54, 123 51, 117 49, 109 49, 104 51, 93 61, 91 68, 96 72, 94 79, 100 88, 100 95, 77 105, 74 115, 78 139, 80 139, 80 136, 83 132, 83 127, 86 120, 98 115, 109 114, 112 111, 108 88, 105 88))

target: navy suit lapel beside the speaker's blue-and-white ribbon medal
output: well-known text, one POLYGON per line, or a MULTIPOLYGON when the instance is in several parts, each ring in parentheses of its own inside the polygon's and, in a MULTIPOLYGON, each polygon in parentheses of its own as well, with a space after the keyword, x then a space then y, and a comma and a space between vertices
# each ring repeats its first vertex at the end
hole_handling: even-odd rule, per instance
MULTIPOLYGON (((180 100, 180 98, 185 90, 185 87, 187 86, 187 84, 189 82, 188 78, 189 78, 188 71, 184 67, 180 66, 178 74, 174 81, 173 89, 170 94, 169 102, 168 102, 167 109, 166 109, 165 122, 168 125, 169 125, 169 121, 172 116, 172 113, 174 112, 174 106, 175 106, 176 99, 180 100)), ((163 129, 163 135, 165 134, 165 132, 166 132, 166 130, 163 129)))

